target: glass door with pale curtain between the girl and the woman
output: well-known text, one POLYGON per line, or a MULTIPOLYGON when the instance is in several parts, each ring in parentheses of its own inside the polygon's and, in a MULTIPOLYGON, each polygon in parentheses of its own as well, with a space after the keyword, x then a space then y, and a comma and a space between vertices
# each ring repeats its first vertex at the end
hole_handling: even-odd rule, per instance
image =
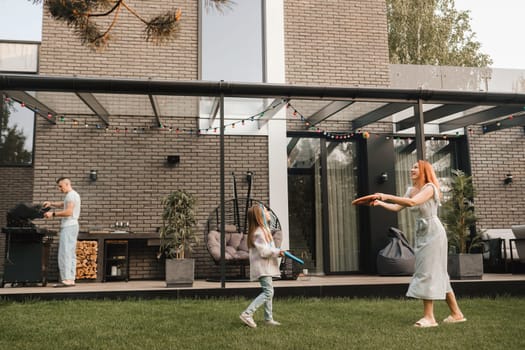
POLYGON ((313 272, 359 271, 355 144, 290 138, 288 163, 290 249, 313 272))

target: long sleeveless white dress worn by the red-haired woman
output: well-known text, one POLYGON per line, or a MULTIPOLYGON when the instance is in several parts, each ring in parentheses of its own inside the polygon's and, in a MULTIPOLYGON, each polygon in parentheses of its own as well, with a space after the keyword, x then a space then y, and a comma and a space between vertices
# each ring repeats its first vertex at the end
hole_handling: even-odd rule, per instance
MULTIPOLYGON (((425 203, 410 207, 416 216, 416 266, 407 296, 425 300, 443 300, 452 291, 447 272, 448 243, 443 224, 438 218, 439 195, 432 183, 434 196, 425 203)), ((423 188, 421 190, 423 190, 423 188)), ((407 193, 410 193, 410 189, 407 193)))

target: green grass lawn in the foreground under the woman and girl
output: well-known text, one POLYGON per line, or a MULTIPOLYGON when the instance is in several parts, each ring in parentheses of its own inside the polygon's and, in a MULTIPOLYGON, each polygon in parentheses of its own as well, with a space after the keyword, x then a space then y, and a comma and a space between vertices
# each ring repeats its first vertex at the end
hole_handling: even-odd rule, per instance
MULTIPOLYGON (((525 298, 460 299, 468 321, 417 329, 408 299, 276 299, 283 325, 239 320, 248 299, 0 301, 0 349, 525 349, 525 298)), ((437 302, 438 320, 448 315, 437 302)))

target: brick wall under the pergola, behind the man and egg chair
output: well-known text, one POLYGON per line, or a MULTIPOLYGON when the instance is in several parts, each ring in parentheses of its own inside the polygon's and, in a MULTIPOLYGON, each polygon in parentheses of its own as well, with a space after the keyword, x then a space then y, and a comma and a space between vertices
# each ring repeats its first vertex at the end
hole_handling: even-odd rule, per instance
MULTIPOLYGON (((131 130, 141 128, 144 119, 112 116, 112 120, 122 129, 127 125, 130 131, 74 126, 70 119, 56 126, 39 122, 34 199, 59 200, 62 195, 54 179, 67 175, 82 198, 81 230, 109 229, 115 221, 127 221, 135 232, 155 233, 160 225, 162 197, 172 190, 185 189, 197 198, 197 231, 204 241, 207 217, 219 205, 219 139, 156 128, 134 133, 131 130), (180 163, 167 166, 167 155, 179 155, 180 163), (96 182, 89 180, 90 169, 98 171, 96 182)), ((171 120, 166 118, 166 122, 171 120)), ((176 123, 181 129, 189 129, 195 120, 177 119, 176 123)), ((253 197, 267 201, 266 137, 230 136, 225 142, 225 153, 227 198, 233 193, 230 174, 250 170, 255 173, 253 197)), ((244 181, 238 181, 240 194, 246 193, 246 186, 244 181)), ((58 220, 51 227, 58 229, 58 220)), ((143 252, 136 254, 145 262, 135 261, 133 266, 142 269, 155 264, 155 254, 148 254, 149 259, 143 252)), ((197 276, 206 275, 203 265, 211 258, 204 244, 199 245, 194 257, 198 259, 197 276)), ((132 278, 142 274, 156 275, 151 271, 130 271, 132 278)))

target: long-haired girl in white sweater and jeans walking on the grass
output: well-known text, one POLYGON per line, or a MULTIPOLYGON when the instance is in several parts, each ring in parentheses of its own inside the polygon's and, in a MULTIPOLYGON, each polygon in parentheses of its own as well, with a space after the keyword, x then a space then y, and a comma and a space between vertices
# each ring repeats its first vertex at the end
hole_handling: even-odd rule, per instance
POLYGON ((253 320, 255 311, 264 304, 264 321, 267 325, 278 326, 273 319, 273 277, 279 277, 279 260, 284 250, 275 247, 272 233, 268 227, 270 212, 255 204, 248 209, 248 248, 250 254, 250 280, 259 281, 262 292, 240 315, 240 319, 251 328, 257 327, 253 320))

